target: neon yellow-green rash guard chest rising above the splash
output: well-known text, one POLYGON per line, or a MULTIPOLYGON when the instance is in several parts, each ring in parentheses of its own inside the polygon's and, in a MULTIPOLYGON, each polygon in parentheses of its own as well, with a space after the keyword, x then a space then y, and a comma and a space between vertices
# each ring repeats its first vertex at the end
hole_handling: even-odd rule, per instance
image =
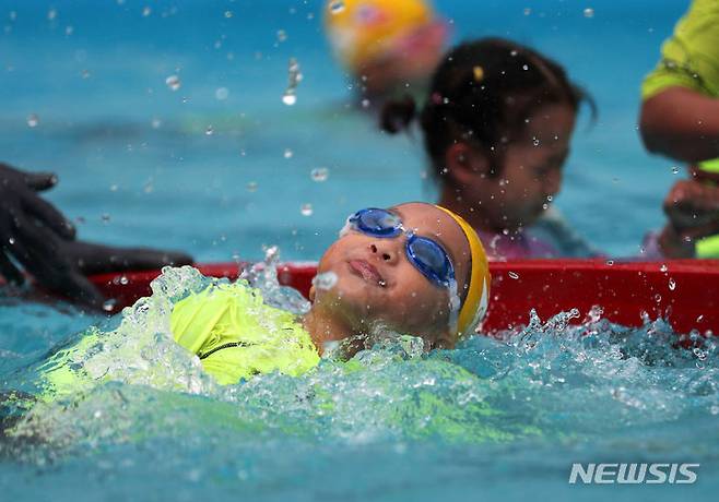
POLYGON ((259 373, 299 375, 317 366, 319 355, 295 316, 263 303, 241 284, 211 287, 175 306, 175 340, 197 354, 221 384, 259 373))

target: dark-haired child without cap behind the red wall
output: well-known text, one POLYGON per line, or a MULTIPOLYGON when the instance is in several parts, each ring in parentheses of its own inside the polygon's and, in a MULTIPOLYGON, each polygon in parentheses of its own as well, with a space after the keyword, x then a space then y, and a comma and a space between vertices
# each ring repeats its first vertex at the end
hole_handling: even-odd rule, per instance
MULTIPOLYGON (((551 208, 585 100, 594 110, 558 63, 484 38, 445 56, 419 113, 411 98, 390 103, 381 125, 396 133, 419 115, 439 204, 472 225, 491 258, 589 258, 600 252, 551 208)), ((644 258, 662 256, 655 236, 645 247, 644 258)))

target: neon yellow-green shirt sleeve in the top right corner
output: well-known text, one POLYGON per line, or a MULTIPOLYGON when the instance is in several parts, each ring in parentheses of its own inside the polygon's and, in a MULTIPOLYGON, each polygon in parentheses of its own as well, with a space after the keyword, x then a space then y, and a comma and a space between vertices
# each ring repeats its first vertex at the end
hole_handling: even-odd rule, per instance
POLYGON ((694 0, 661 48, 661 61, 641 85, 641 98, 668 87, 719 97, 719 1, 694 0))

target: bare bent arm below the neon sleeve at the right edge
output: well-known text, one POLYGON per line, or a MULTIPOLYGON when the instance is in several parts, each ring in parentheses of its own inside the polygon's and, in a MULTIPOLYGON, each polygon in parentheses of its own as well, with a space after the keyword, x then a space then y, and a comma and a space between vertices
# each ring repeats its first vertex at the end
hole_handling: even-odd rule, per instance
POLYGON ((677 160, 719 157, 719 98, 686 87, 669 87, 641 106, 646 148, 677 160))

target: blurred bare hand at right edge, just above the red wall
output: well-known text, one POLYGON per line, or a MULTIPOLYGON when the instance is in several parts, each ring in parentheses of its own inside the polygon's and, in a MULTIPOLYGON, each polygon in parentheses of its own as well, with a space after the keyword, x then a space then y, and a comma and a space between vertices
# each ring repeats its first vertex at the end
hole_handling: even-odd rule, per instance
POLYGON ((669 224, 660 246, 670 258, 692 258, 697 239, 719 234, 719 187, 680 180, 669 191, 663 206, 669 224))

